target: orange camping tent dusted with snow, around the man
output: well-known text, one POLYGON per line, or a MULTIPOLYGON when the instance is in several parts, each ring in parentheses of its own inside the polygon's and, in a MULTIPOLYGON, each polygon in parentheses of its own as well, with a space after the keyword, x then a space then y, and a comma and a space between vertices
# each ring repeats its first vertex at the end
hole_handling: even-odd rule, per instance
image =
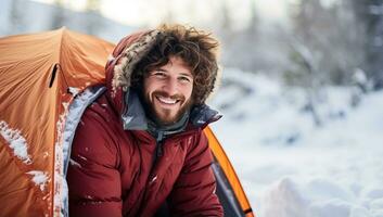
MULTIPOLYGON (((68 107, 104 82, 113 48, 66 28, 0 39, 1 216, 66 215, 68 107)), ((254 216, 218 140, 205 133, 226 216, 254 216)))

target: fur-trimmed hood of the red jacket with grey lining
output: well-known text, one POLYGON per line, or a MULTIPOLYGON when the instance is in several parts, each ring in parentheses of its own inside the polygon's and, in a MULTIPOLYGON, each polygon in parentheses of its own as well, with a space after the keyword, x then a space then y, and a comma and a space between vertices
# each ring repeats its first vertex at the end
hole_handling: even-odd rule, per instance
MULTIPOLYGON (((148 122, 138 94, 130 89, 131 77, 137 63, 151 51, 165 34, 158 29, 135 33, 123 38, 108 58, 105 66, 107 95, 120 115, 125 129, 148 129, 148 122)), ((214 79, 215 81, 216 79, 214 79)), ((204 99, 213 91, 214 84, 210 84, 209 87, 212 88, 206 92, 204 99)), ((218 112, 203 103, 192 108, 190 123, 201 127, 220 117, 218 112)))

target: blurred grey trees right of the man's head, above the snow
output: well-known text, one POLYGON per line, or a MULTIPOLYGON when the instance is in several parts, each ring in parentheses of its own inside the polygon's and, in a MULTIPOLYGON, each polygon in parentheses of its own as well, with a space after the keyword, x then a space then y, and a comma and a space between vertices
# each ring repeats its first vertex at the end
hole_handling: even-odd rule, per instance
POLYGON ((234 30, 227 13, 221 17, 226 65, 280 75, 291 85, 383 88, 383 1, 301 0, 289 4, 284 26, 265 26, 250 9, 243 29, 234 30))

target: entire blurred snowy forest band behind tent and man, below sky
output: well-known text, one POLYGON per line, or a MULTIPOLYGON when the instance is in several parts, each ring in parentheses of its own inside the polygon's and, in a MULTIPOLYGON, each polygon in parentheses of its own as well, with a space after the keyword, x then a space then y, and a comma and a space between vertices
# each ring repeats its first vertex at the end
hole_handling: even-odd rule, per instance
MULTIPOLYGON (((49 5, 27 0, 0 1, 0 36, 65 25, 117 42, 129 31, 142 28, 101 16, 101 0, 87 0, 81 12, 71 10, 65 0, 49 5)), ((383 88, 383 1, 285 1, 288 16, 280 23, 259 17, 263 9, 255 1, 247 2, 250 17, 245 24, 238 25, 233 14, 241 12, 228 1, 214 4, 214 21, 189 22, 212 30, 221 40, 225 67, 264 73, 310 90, 323 85, 355 85, 362 92, 383 88)), ((158 24, 178 22, 171 8, 165 14, 158 24)))

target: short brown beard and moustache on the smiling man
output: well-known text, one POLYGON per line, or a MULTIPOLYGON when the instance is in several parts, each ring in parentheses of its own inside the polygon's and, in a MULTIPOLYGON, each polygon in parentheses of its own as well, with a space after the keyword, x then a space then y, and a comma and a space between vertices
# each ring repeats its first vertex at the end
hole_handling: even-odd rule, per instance
POLYGON ((186 98, 181 94, 169 95, 164 91, 144 93, 142 95, 142 100, 146 115, 158 126, 171 126, 176 124, 192 107, 191 98, 186 101, 186 98), (170 110, 158 107, 158 105, 156 105, 154 102, 155 100, 157 100, 155 99, 156 97, 164 97, 177 100, 176 103, 180 103, 181 106, 178 107, 178 111, 175 111, 176 108, 170 110))

